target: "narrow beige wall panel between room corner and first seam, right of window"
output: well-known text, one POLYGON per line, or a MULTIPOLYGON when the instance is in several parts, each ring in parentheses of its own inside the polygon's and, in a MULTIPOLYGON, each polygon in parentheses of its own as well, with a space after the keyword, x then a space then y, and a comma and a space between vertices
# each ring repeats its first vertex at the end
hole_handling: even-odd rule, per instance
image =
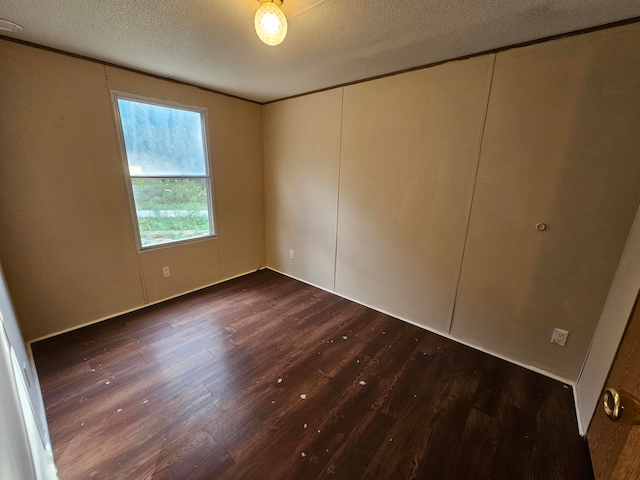
POLYGON ((264 108, 267 265, 330 290, 341 114, 342 89, 264 108))

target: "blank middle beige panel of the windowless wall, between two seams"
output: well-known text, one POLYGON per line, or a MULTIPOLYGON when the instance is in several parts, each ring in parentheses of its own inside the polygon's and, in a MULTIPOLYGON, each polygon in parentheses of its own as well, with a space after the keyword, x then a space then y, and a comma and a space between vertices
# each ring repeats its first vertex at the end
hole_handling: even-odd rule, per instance
POLYGON ((447 331, 492 62, 345 88, 336 292, 447 331))

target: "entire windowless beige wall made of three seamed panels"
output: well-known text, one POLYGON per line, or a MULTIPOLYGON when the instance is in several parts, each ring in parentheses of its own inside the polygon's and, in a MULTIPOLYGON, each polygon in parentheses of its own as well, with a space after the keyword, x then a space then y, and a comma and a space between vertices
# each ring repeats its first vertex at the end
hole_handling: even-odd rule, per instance
POLYGON ((640 201, 639 47, 634 24, 498 53, 492 80, 483 56, 356 84, 339 118, 313 108, 329 92, 269 105, 268 265, 331 289, 283 238, 329 259, 307 219, 337 195, 336 293, 446 333, 458 288, 452 338, 575 380, 640 201), (307 149, 335 151, 338 123, 339 159, 320 159, 338 175, 319 175, 307 149), (324 201, 296 190, 318 185, 324 201))

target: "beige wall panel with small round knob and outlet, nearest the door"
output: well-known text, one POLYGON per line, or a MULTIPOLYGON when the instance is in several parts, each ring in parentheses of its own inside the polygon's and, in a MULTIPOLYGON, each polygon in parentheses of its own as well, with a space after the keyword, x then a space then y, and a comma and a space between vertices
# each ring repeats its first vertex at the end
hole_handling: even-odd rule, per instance
POLYGON ((497 55, 454 337, 577 378, 640 200, 638 51, 633 24, 497 55))

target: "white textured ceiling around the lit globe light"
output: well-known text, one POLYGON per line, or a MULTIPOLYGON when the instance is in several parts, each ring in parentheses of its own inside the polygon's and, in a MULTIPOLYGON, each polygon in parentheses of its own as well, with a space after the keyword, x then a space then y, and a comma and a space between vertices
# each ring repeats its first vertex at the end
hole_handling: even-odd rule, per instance
POLYGON ((638 0, 285 0, 277 47, 256 0, 0 0, 5 36, 266 102, 640 17, 638 0))

